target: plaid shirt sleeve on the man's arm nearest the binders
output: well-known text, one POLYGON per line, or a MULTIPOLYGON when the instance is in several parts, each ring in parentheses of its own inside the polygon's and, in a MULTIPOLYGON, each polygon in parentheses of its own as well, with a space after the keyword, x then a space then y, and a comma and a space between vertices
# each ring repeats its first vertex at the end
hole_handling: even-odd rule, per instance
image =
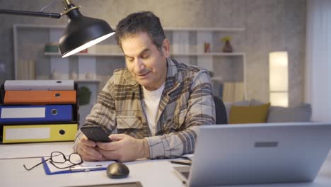
MULTIPOLYGON (((103 90, 98 95, 98 101, 93 106, 91 113, 86 117, 85 123, 82 125, 102 125, 106 130, 115 130, 116 128, 116 112, 115 101, 112 98, 111 90, 113 88, 111 78, 107 84, 103 87, 103 90)), ((83 132, 78 130, 76 132, 76 139, 74 142, 74 152, 77 152, 77 143, 83 137, 83 132)))

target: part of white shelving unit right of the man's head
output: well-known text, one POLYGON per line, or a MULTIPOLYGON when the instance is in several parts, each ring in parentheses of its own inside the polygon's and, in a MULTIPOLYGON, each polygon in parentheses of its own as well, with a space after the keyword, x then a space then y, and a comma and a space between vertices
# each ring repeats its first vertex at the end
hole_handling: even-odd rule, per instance
POLYGON ((223 96, 221 88, 221 91, 216 91, 216 84, 223 84, 223 88, 226 84, 233 94, 226 91, 230 97, 224 101, 233 102, 247 98, 246 54, 238 50, 222 52, 221 38, 231 35, 238 43, 244 31, 245 28, 165 28, 165 35, 170 40, 171 55, 178 62, 204 67, 212 72, 214 94, 223 96), (231 95, 236 96, 231 98, 231 95))

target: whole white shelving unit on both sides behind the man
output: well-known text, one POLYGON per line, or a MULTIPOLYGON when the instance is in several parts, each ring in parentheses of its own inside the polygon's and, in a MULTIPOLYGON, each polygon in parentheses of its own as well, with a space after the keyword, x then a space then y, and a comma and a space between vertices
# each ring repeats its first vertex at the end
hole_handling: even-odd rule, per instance
MULTIPOLYGON (((226 94, 227 83, 240 83, 243 88, 240 91, 242 96, 239 96, 238 100, 245 98, 245 52, 236 50, 236 40, 237 43, 240 42, 245 28, 164 30, 170 40, 173 58, 178 62, 208 69, 213 74, 214 82, 224 83, 223 94, 226 94), (233 37, 234 52, 221 52, 223 43, 220 39, 226 35, 233 37), (206 43, 209 44, 207 52, 204 48, 206 43)), ((91 90, 90 103, 80 106, 79 109, 80 123, 83 123, 112 72, 125 67, 124 56, 114 37, 88 48, 86 53, 78 53, 67 58, 61 58, 59 52, 45 52, 45 44, 57 42, 63 32, 64 26, 14 25, 15 79, 75 79, 79 87, 85 86, 91 90)), ((228 90, 234 91, 233 88, 228 90)), ((233 95, 229 94, 232 92, 228 92, 228 95, 233 95)))

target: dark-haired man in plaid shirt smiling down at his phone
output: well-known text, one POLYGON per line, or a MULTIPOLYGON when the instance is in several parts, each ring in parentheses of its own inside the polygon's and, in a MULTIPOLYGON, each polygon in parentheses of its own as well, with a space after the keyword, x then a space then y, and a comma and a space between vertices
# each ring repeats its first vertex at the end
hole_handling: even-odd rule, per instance
POLYGON ((215 123, 206 69, 170 60, 170 43, 152 12, 132 13, 117 25, 127 68, 115 70, 84 125, 102 125, 112 142, 77 132, 74 150, 86 161, 171 158, 194 152, 199 125, 215 123))

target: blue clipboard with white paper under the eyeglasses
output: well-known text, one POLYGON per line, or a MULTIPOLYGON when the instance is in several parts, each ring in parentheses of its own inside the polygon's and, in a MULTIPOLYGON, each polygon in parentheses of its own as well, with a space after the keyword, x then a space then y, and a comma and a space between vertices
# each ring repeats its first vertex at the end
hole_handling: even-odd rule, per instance
POLYGON ((42 166, 44 167, 45 174, 54 175, 54 174, 70 174, 76 172, 89 172, 89 171, 100 171, 107 170, 107 166, 113 163, 112 161, 108 162, 83 162, 82 165, 74 166, 67 169, 57 169, 50 162, 46 161, 45 157, 42 157, 42 166))

